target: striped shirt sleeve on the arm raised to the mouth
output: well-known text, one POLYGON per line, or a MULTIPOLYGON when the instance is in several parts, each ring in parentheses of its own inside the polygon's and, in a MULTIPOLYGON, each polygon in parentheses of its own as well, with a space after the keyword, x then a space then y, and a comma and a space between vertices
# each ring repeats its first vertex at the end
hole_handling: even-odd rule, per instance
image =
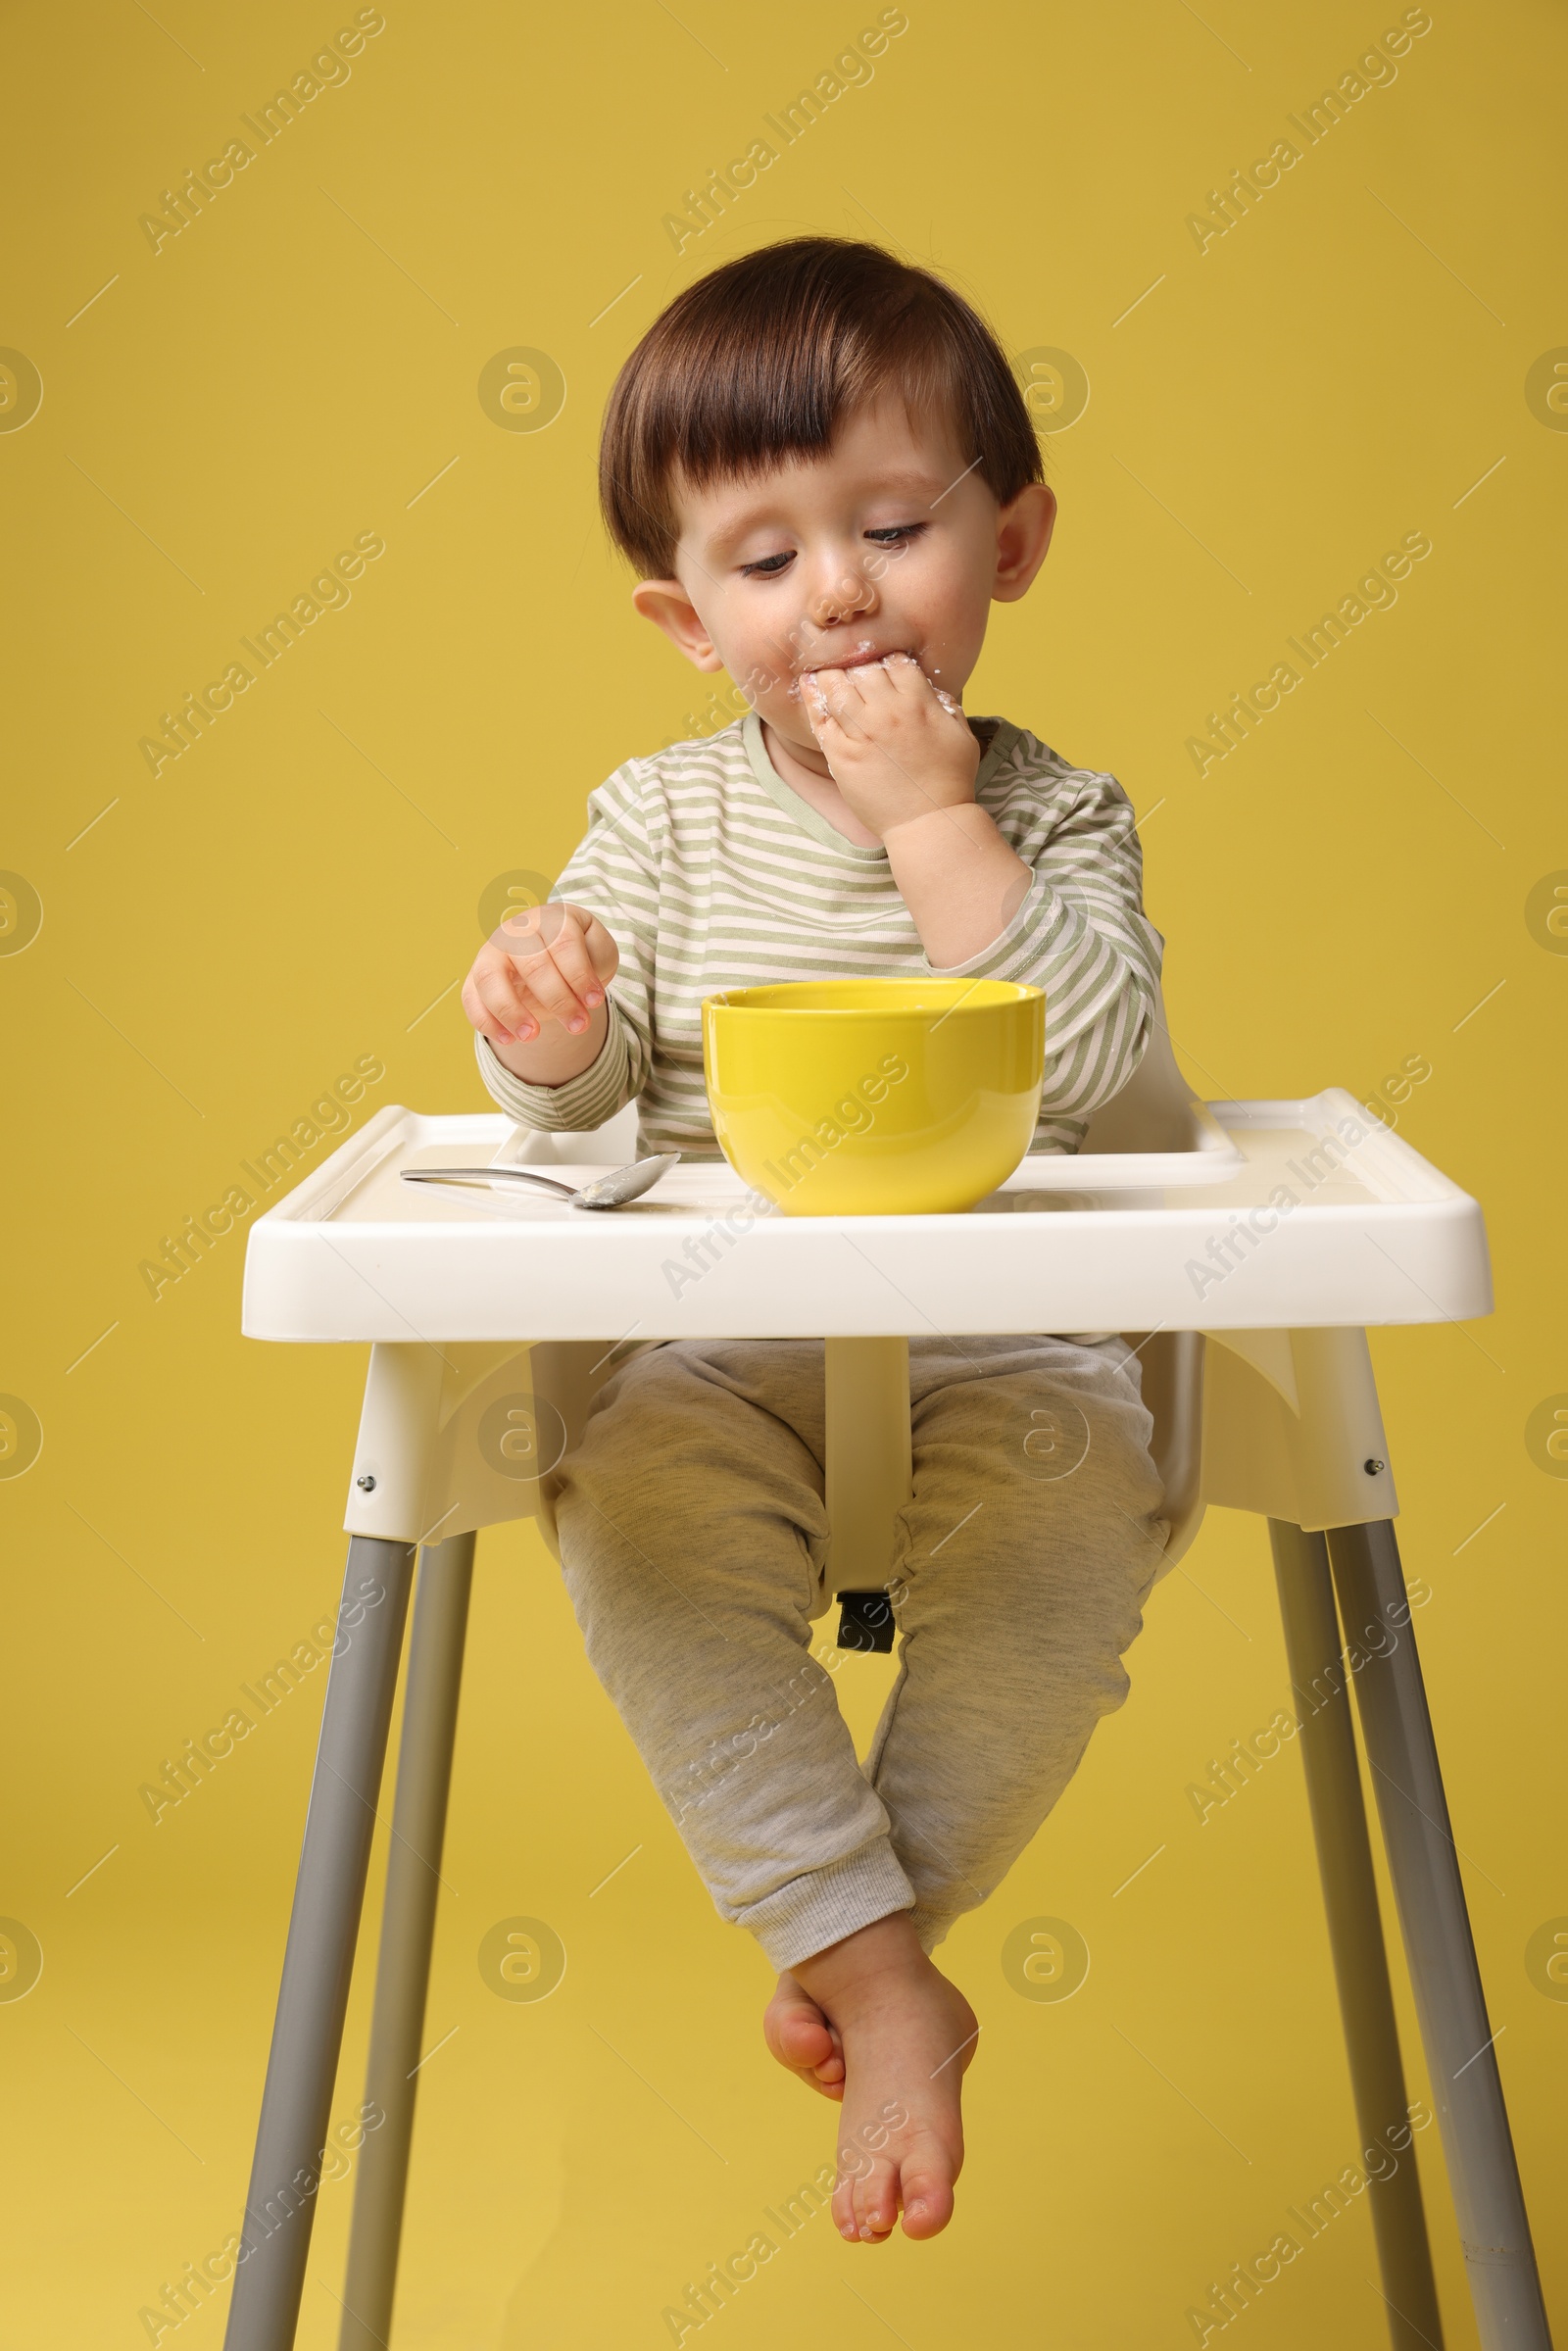
MULTIPOLYGON (((1114 776, 1016 776, 990 816, 1032 882, 1006 929, 940 978, 1020 980, 1046 992, 1039 1143, 1077 1150, 1088 1112, 1119 1093, 1147 1049, 1159 933, 1143 912, 1133 804, 1114 776)), ((1034 764, 1034 762, 1030 762, 1034 764)))

